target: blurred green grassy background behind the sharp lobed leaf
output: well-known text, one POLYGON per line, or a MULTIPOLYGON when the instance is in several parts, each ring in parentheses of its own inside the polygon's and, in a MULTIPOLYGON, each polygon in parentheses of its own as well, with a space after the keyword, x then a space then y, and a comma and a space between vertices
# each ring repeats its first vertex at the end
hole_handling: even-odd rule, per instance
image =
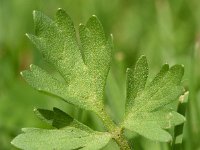
MULTIPOLYGON (((67 11, 76 27, 95 14, 106 34, 113 34, 115 48, 106 98, 116 121, 124 99, 126 68, 140 55, 148 58, 150 78, 166 62, 185 66, 183 84, 190 95, 182 147, 200 149, 199 0, 0 0, 0 150, 15 149, 10 141, 22 127, 45 127, 34 116, 34 107, 71 109, 35 91, 20 77, 20 71, 31 63, 48 68, 25 37, 27 32, 34 33, 32 11, 40 10, 53 18, 59 7, 67 11)), ((167 144, 142 137, 132 140, 135 149, 169 149, 167 144)))

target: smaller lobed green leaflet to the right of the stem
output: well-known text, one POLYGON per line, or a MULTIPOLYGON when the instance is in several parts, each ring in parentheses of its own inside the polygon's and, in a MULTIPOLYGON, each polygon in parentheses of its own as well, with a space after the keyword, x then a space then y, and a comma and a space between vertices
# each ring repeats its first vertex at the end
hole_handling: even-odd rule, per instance
POLYGON ((175 65, 169 69, 167 64, 163 65, 156 77, 145 86, 148 69, 144 60, 146 58, 141 57, 134 72, 127 72, 127 95, 133 94, 127 96, 129 100, 123 127, 151 140, 170 141, 171 135, 163 129, 185 121, 182 115, 166 107, 183 93, 183 87, 180 86, 183 66, 175 65))

